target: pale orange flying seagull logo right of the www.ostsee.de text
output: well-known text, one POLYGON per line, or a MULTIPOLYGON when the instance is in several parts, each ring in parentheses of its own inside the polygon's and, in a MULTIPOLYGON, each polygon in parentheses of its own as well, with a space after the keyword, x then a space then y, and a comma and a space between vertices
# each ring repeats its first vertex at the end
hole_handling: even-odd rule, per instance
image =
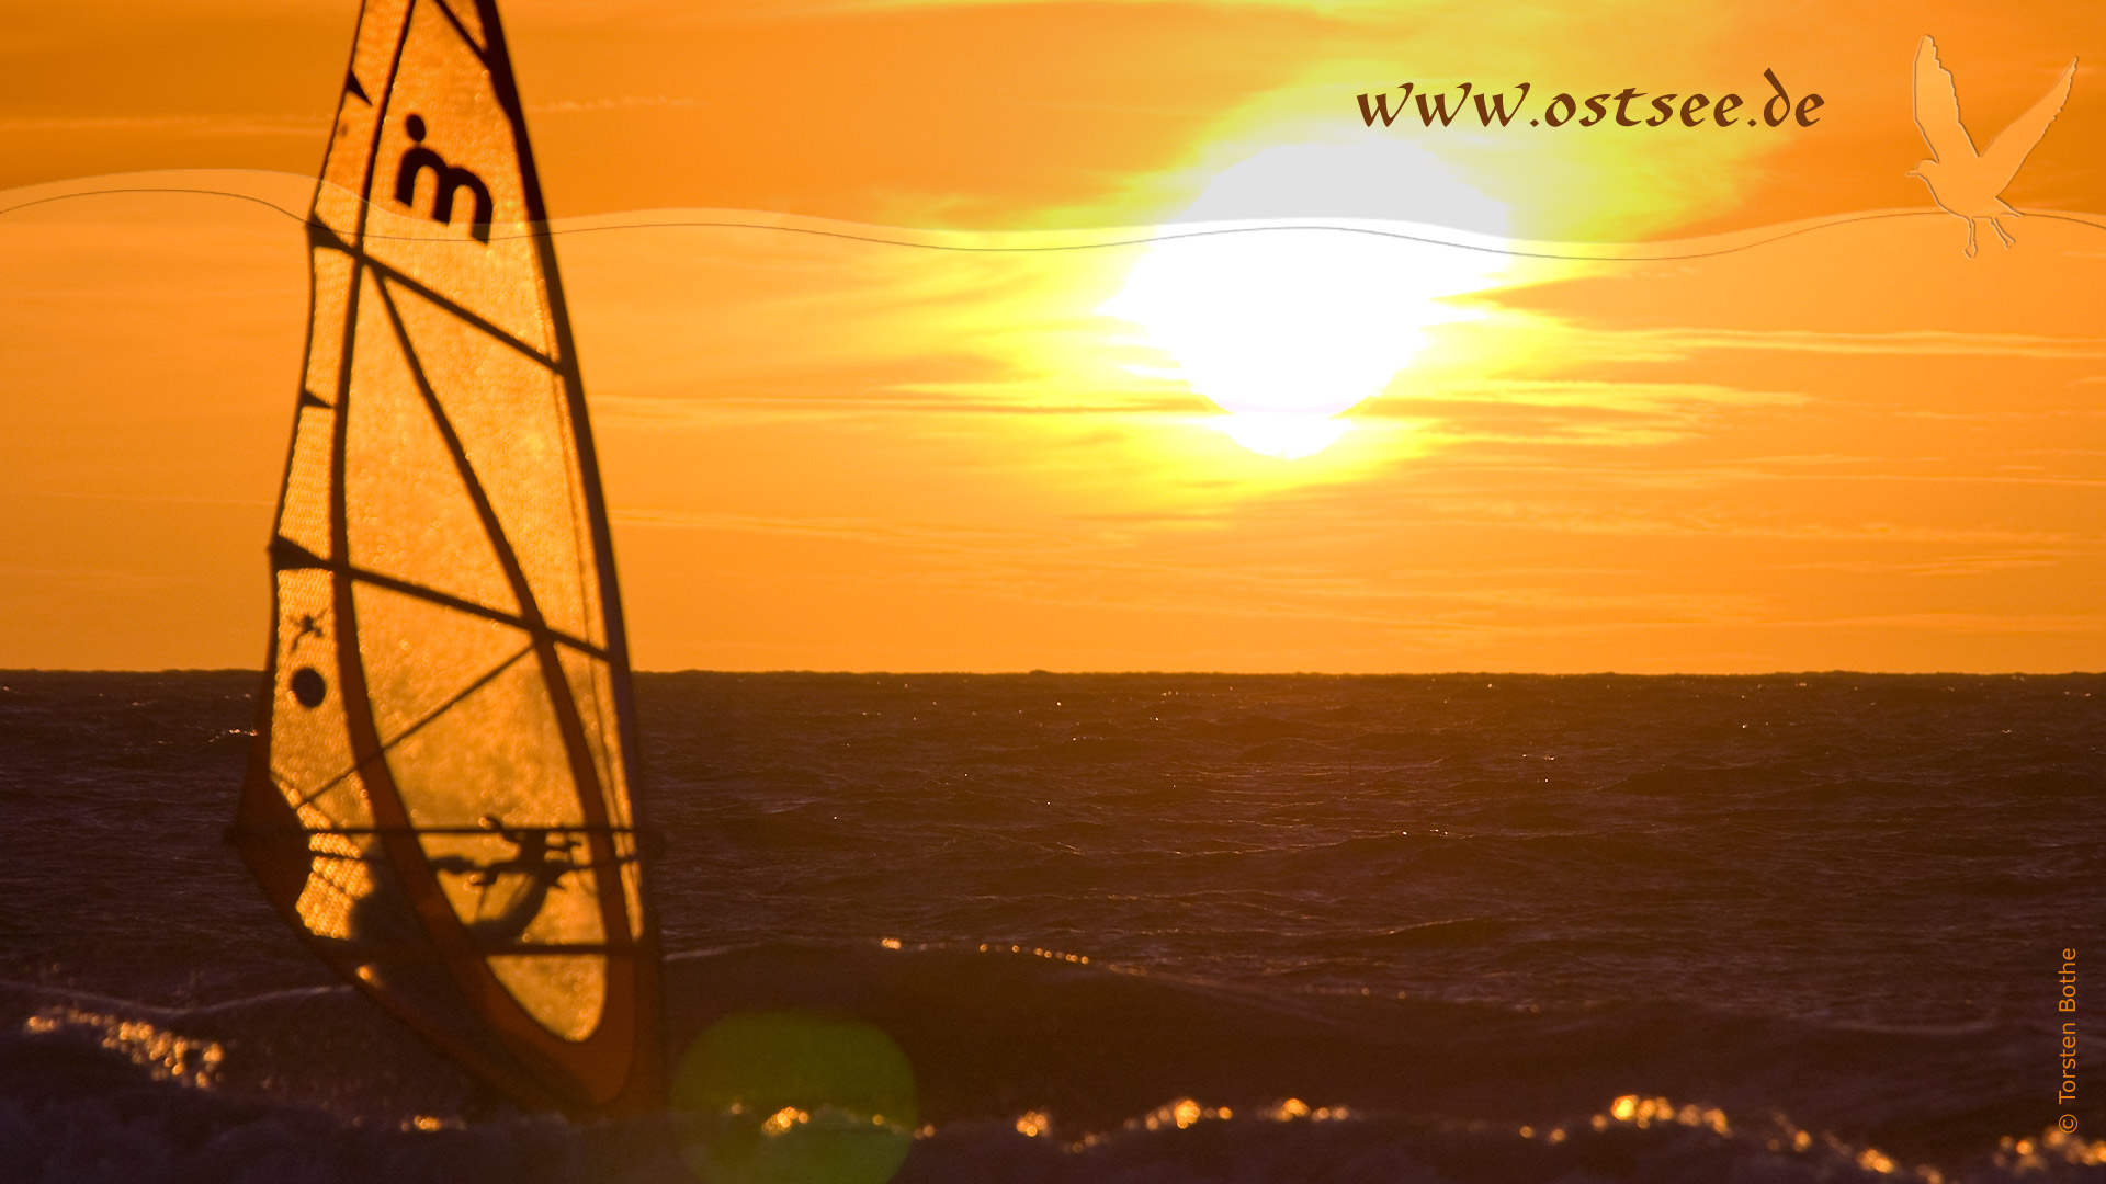
POLYGON ((2041 95, 2024 116, 2011 120, 2003 135, 1990 141, 1988 152, 1975 152, 1967 126, 1961 124, 1961 97, 1952 88, 1952 72, 1938 63, 1938 42, 1929 36, 1916 46, 1916 131, 1931 147, 1929 160, 1919 160, 1908 177, 1923 181, 1931 190, 1938 209, 1967 223, 1965 253, 1975 253, 1975 221, 1988 221, 1990 230, 2005 246, 2015 242, 2011 232, 1999 221, 2020 213, 2003 204, 1996 194, 2018 177, 2018 166, 2026 154, 2047 135, 2047 124, 2062 114, 2062 103, 2070 99, 2070 80, 2077 78, 2077 59, 2070 59, 2062 78, 2041 95))

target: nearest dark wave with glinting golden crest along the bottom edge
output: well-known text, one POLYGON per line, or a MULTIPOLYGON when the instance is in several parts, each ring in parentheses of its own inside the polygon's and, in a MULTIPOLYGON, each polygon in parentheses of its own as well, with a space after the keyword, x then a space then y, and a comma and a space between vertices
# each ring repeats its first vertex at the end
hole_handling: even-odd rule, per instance
MULTIPOLYGON (((724 1114, 657 1112, 573 1123, 539 1114, 396 1121, 156 1074, 61 1024, 0 1037, 0 1178, 21 1184, 689 1184, 697 1140, 724 1114)), ((817 1125, 762 1127, 804 1140, 792 1163, 826 1165, 817 1125)), ((836 1157, 838 1159, 838 1157, 836 1157)), ((927 1123, 897 1184, 1942 1184, 2098 1180, 2106 1144, 2043 1131, 2003 1136, 1950 1165, 1807 1129, 1777 1112, 1746 1117, 1666 1096, 1622 1093, 1556 1123, 1453 1119, 1314 1104, 1299 1096, 1221 1106, 1173 1096, 1114 1123, 1045 1108, 927 1123)), ((845 1184, 828 1171, 731 1173, 710 1184, 845 1184)), ((878 1184, 880 1178, 870 1178, 878 1184)))

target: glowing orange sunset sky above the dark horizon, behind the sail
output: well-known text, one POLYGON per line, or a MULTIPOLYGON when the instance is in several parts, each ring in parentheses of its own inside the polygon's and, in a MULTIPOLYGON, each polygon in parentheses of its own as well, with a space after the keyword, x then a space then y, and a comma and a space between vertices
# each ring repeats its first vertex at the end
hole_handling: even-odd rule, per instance
MULTIPOLYGON (((636 666, 2106 668, 2106 8, 1565 8, 505 0, 636 666)), ((261 662, 354 21, 0 15, 0 668, 261 662)))

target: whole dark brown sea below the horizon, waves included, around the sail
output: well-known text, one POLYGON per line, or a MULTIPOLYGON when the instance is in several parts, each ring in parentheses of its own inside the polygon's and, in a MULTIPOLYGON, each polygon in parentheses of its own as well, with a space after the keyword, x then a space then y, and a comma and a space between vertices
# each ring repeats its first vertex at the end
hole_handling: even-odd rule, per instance
MULTIPOLYGON (((0 1180, 868 1178, 518 1112, 339 984, 221 836, 255 683, 0 674, 0 1180)), ((899 1182, 2106 1180, 2106 676, 691 672, 638 714, 670 1055, 882 1030, 899 1182)))

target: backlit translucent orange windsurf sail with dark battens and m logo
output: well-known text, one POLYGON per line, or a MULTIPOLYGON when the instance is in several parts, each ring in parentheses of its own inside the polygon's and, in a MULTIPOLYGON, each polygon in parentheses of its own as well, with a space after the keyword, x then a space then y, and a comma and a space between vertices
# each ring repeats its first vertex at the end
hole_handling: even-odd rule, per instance
POLYGON ((234 841, 337 971, 531 1106, 663 1096, 628 647, 493 0, 366 0, 234 841))

